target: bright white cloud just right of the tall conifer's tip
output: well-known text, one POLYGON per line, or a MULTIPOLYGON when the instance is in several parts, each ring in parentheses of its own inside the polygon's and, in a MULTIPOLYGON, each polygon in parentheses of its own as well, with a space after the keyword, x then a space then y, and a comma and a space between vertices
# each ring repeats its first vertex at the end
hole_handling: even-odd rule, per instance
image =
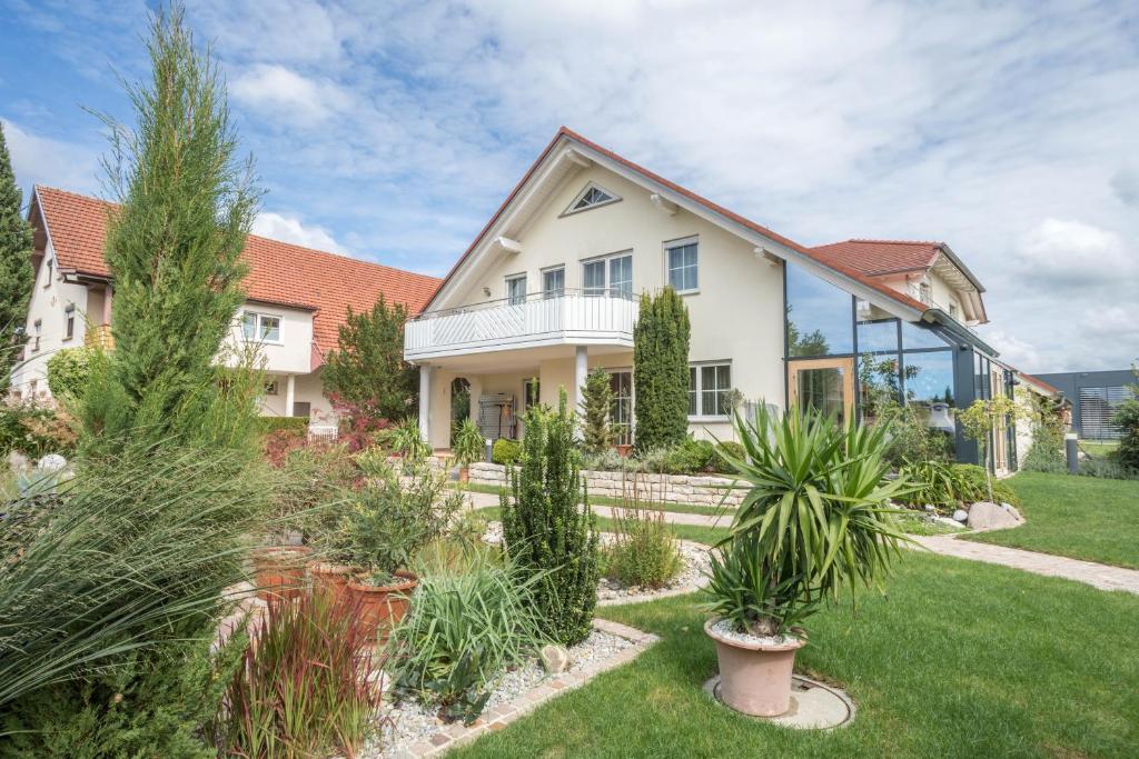
POLYGON ((256 65, 233 80, 233 97, 287 122, 312 124, 349 109, 352 97, 326 80, 308 79, 284 66, 256 65))

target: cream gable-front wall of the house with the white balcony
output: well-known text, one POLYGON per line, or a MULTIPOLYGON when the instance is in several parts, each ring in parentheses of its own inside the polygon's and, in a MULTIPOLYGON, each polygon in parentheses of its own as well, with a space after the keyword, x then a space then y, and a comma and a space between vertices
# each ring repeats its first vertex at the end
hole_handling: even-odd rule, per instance
MULTIPOLYGON (((649 200, 648 190, 599 166, 576 173, 564 182, 541 207, 524 232, 517 236, 522 253, 498 257, 448 305, 477 304, 506 297, 506 277, 526 273, 527 290, 541 290, 541 271, 565 265, 565 286, 582 286, 582 262, 599 255, 630 250, 633 258, 633 290, 654 291, 666 282, 664 244, 696 237, 699 242, 699 291, 686 295, 693 336, 693 362, 730 361, 731 382, 748 399, 784 405, 784 314, 782 270, 757 258, 749 242, 685 211, 669 215, 649 200), (562 216, 590 181, 616 193, 621 201, 562 216), (483 288, 490 290, 484 295, 483 288)), ((557 402, 558 386, 573 386, 573 360, 541 363, 542 401, 557 402)), ((631 365, 629 356, 590 358, 590 365, 631 365)), ((521 374, 503 366, 515 395, 521 374)), ((436 372, 439 374, 439 372, 436 372)), ((494 391, 497 381, 484 377, 483 393, 494 391)), ((437 386, 439 383, 435 382, 437 386)), ((442 398, 441 398, 442 399, 442 398)), ((432 416, 435 418, 434 409, 432 416)), ((710 428, 721 437, 730 435, 727 423, 694 422, 690 429, 703 435, 710 428)), ((433 442, 436 438, 432 427, 433 442)))

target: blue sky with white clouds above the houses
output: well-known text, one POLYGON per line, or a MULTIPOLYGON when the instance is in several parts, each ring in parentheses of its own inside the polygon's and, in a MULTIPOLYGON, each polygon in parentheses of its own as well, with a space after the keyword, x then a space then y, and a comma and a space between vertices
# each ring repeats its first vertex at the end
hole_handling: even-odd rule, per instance
MULTIPOLYGON (((106 195, 147 3, 0 0, 17 181, 106 195)), ((1139 360, 1139 3, 190 0, 255 229, 445 273, 565 124, 796 240, 940 240, 1030 372, 1139 360)))

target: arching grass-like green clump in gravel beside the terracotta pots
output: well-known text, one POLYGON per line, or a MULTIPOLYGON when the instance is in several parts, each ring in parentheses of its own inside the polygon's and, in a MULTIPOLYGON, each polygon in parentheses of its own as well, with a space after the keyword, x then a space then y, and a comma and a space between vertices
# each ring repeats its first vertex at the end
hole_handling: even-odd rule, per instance
POLYGON ((482 712, 494 678, 542 641, 533 588, 543 575, 475 555, 460 571, 420 578, 411 613, 392 633, 386 665, 398 694, 467 724, 482 712))

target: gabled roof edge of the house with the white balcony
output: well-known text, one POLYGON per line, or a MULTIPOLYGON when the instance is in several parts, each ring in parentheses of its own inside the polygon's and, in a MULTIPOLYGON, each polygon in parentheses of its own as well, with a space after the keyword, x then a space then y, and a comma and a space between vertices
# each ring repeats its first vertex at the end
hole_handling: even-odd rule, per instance
POLYGON ((454 266, 451 267, 451 271, 448 272, 446 277, 443 279, 443 283, 440 284, 439 290, 436 290, 434 296, 432 296, 432 300, 429 300, 426 304, 425 308, 429 307, 432 305, 432 302, 434 302, 434 299, 439 296, 439 294, 446 288, 448 283, 454 278, 456 273, 462 267, 462 265, 467 262, 467 259, 475 251, 475 249, 478 248, 478 246, 484 241, 487 233, 494 228, 495 223, 503 215, 507 208, 510 207, 510 204, 519 196, 519 193, 523 191, 523 189, 526 187, 530 180, 535 175, 538 168, 564 141, 575 142, 579 146, 587 148, 590 151, 593 151, 605 158, 608 158, 609 160, 615 162, 616 164, 620 164, 624 168, 631 171, 633 174, 639 175, 642 180, 646 180, 652 184, 659 185, 665 190, 669 190, 675 193, 677 196, 680 196, 683 199, 698 204, 704 209, 711 212, 714 216, 718 216, 726 222, 738 224, 747 230, 751 230, 752 232, 755 232, 771 240, 775 244, 778 244, 785 248, 789 248, 794 254, 798 254, 800 256, 806 259, 820 264, 825 269, 829 269, 830 271, 839 274, 842 278, 845 278, 847 280, 853 280, 862 284, 863 287, 875 290, 877 294, 885 296, 890 300, 893 300, 902 306, 906 306, 909 310, 916 311, 919 314, 925 313, 928 310, 928 306, 926 306, 921 302, 911 298, 908 295, 899 292, 893 288, 888 287, 887 284, 877 281, 871 277, 866 275, 854 266, 851 266, 850 264, 843 262, 826 258, 822 255, 818 254, 814 249, 800 245, 798 242, 795 242, 789 238, 786 238, 781 234, 778 234, 777 232, 773 232, 772 230, 768 229, 767 226, 763 226, 762 224, 759 224, 756 222, 751 221, 749 218, 740 216, 737 213, 728 211, 723 206, 719 206, 712 203, 711 200, 696 195, 691 190, 688 190, 677 184, 675 182, 666 180, 659 174, 655 174, 649 170, 645 168, 644 166, 639 166, 638 164, 634 164, 628 158, 624 158, 613 152, 612 150, 608 150, 607 148, 603 148, 596 142, 587 140, 584 137, 577 134, 576 132, 566 126, 563 126, 557 131, 557 133, 554 135, 554 139, 550 140, 549 145, 547 145, 546 149, 542 150, 541 155, 538 156, 538 159, 526 171, 526 173, 523 175, 518 184, 515 185, 514 190, 510 191, 510 195, 508 195, 506 200, 502 201, 502 205, 499 206, 499 209, 494 212, 494 215, 491 216, 490 221, 486 222, 482 231, 478 232, 477 237, 475 237, 474 241, 470 244, 467 250, 462 254, 459 261, 456 262, 454 266))

